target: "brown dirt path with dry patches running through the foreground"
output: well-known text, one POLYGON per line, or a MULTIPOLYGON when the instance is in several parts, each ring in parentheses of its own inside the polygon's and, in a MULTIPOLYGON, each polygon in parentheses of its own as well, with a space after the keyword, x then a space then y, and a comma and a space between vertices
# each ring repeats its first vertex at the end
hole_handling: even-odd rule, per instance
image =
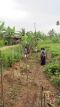
POLYGON ((43 93, 47 97, 48 93, 52 93, 56 98, 57 90, 47 80, 43 70, 44 67, 35 56, 33 59, 22 60, 5 71, 3 74, 5 107, 44 107, 41 106, 42 86, 43 93))

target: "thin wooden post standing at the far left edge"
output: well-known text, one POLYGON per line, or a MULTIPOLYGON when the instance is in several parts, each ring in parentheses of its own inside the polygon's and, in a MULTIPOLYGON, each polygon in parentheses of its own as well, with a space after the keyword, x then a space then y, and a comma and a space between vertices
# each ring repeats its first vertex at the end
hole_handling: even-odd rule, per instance
MULTIPOLYGON (((1 51, 0 51, 1 55, 1 51)), ((3 62, 0 57, 0 72, 1 72, 1 101, 2 101, 2 107, 4 107, 4 94, 3 94, 3 62)))

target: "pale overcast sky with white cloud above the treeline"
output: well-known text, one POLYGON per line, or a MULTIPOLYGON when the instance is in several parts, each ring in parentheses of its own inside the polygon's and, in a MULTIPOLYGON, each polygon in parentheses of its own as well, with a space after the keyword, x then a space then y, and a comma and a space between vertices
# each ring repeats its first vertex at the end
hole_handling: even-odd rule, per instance
POLYGON ((59 31, 57 20, 60 21, 60 0, 0 0, 0 21, 16 30, 34 31, 35 24, 37 31, 59 31))

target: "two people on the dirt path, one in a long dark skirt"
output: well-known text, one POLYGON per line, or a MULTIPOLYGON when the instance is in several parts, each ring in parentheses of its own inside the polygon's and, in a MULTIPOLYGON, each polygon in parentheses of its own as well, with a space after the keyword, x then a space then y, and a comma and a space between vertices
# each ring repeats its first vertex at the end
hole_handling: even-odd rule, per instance
MULTIPOLYGON (((24 48, 25 58, 28 56, 29 53, 30 53, 29 47, 25 46, 25 48, 24 48)), ((40 63, 41 63, 41 65, 45 65, 46 64, 46 50, 45 50, 45 48, 41 48, 41 51, 40 51, 40 63)))

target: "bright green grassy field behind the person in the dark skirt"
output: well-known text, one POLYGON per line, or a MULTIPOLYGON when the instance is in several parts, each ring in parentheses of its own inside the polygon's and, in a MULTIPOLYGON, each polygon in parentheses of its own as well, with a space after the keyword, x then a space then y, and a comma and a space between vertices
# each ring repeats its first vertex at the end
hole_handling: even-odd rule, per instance
POLYGON ((47 51, 51 53, 52 57, 60 55, 60 43, 38 42, 38 50, 42 47, 46 48, 47 51))

